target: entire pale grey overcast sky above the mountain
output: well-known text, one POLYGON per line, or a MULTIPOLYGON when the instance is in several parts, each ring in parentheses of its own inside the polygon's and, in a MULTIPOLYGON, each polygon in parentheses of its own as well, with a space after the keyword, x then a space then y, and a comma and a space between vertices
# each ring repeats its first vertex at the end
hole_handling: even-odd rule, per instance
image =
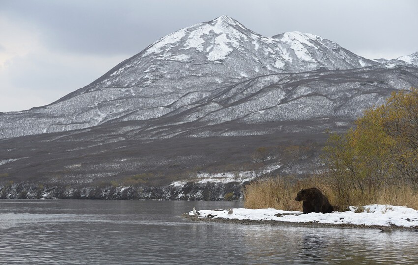
POLYGON ((159 38, 228 15, 264 36, 312 33, 368 59, 418 51, 417 0, 0 0, 0 111, 90 84, 159 38))

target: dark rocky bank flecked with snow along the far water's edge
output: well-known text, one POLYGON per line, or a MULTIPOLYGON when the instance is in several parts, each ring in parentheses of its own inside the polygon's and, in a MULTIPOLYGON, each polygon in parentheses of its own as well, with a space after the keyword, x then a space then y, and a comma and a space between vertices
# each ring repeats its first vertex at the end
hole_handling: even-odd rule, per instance
POLYGON ((163 187, 77 187, 19 183, 0 186, 0 199, 240 200, 243 184, 194 183, 163 187))

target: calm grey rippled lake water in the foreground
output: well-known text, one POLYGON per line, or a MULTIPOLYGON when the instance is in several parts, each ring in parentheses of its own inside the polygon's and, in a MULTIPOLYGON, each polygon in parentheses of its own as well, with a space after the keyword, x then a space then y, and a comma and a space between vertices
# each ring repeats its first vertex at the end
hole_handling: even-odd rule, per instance
POLYGON ((0 200, 1 264, 418 264, 418 233, 192 222, 241 202, 0 200))

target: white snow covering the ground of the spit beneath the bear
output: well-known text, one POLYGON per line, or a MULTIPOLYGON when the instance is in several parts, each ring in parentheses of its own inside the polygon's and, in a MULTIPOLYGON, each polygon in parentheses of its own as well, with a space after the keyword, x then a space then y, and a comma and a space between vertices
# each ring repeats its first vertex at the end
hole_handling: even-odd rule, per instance
MULTIPOLYGON (((199 218, 206 218, 208 214, 214 215, 213 219, 236 219, 236 220, 273 220, 292 223, 314 222, 320 224, 346 224, 346 225, 366 225, 366 226, 418 226, 418 211, 392 205, 367 205, 363 206, 363 211, 355 213, 358 210, 354 206, 349 207, 349 211, 333 213, 308 213, 303 214, 300 211, 283 211, 272 208, 268 209, 233 209, 232 214, 228 210, 198 210, 199 218)), ((193 211, 189 212, 193 215, 193 211)))

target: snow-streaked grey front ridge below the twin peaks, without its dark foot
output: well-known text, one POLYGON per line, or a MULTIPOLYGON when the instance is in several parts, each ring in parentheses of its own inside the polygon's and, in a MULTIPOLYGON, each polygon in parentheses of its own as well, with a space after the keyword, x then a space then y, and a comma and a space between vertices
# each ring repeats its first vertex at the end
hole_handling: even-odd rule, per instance
POLYGON ((256 77, 218 88, 189 108, 149 120, 141 138, 267 134, 293 131, 294 124, 309 121, 317 121, 316 128, 306 125, 302 130, 349 124, 365 108, 384 103, 392 91, 416 86, 418 69, 406 69, 373 66, 256 77), (263 123, 270 125, 260 126, 263 123))

